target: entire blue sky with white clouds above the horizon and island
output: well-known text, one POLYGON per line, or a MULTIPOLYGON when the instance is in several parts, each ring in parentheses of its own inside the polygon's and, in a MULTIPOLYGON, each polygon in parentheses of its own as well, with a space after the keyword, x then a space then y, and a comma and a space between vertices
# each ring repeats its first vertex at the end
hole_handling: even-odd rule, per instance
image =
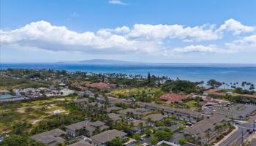
POLYGON ((256 64, 255 0, 0 0, 1 63, 256 64))

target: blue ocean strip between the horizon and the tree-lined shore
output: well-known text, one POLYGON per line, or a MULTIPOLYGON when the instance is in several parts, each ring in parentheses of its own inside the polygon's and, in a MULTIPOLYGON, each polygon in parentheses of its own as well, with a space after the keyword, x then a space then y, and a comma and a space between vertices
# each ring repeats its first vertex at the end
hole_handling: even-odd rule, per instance
POLYGON ((154 74, 181 80, 252 82, 256 85, 256 64, 0 64, 1 69, 59 69, 70 72, 154 74))

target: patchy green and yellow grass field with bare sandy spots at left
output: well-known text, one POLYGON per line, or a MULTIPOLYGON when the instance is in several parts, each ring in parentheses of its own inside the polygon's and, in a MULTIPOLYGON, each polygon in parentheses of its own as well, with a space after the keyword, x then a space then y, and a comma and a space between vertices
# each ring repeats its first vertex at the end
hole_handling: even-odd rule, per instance
POLYGON ((74 96, 67 96, 52 99, 35 99, 29 101, 16 101, 0 104, 0 134, 9 131, 15 121, 26 121, 34 124, 50 115, 54 111, 61 110, 69 112, 61 107, 61 103, 74 99, 74 96))

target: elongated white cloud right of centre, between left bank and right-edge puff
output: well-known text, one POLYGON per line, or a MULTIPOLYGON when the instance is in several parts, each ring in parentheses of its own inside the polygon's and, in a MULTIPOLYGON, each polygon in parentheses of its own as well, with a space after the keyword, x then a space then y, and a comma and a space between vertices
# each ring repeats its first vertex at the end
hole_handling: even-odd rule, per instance
POLYGON ((182 39, 185 42, 216 40, 221 37, 214 31, 214 26, 184 27, 181 25, 135 24, 128 34, 131 38, 145 39, 182 39))

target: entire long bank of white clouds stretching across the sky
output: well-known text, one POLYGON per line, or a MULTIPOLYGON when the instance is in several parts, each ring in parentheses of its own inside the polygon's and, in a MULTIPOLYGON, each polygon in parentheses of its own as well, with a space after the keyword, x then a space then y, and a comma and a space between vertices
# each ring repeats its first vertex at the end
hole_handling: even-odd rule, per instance
MULTIPOLYGON (((228 21, 228 20, 227 20, 228 21)), ((227 22, 226 21, 226 22, 227 22)), ((236 21, 238 22, 238 21, 236 21)), ((227 23, 225 23, 227 24, 227 23)), ((223 25, 225 25, 223 24, 223 25)), ((70 31, 65 26, 53 26, 42 20, 29 23, 15 30, 0 30, 0 44, 3 48, 28 48, 50 51, 83 52, 91 54, 105 53, 143 53, 150 55, 165 55, 178 53, 232 53, 244 50, 255 50, 256 35, 253 34, 230 42, 217 45, 207 45, 208 41, 222 38, 223 31, 252 31, 250 27, 215 28, 214 25, 181 26, 135 24, 131 28, 102 28, 99 31, 78 33, 70 31), (172 47, 170 39, 184 41, 182 46, 172 47), (198 45, 198 42, 203 42, 198 45), (5 46, 5 47, 4 47, 5 46)), ((237 34, 236 33, 236 34, 237 34)), ((238 33, 239 34, 239 33, 238 33)), ((177 45, 176 45, 177 46, 177 45)))

